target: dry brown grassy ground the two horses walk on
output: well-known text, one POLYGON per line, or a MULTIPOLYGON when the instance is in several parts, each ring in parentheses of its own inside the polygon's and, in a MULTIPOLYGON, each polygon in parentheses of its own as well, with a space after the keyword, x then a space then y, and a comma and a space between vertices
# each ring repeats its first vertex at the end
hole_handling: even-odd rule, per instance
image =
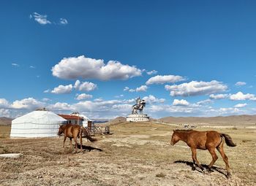
MULTIPOLYGON (((53 139, 0 139, 0 153, 19 152, 18 159, 0 159, 0 185, 256 185, 256 131, 222 129, 237 147, 227 147, 232 177, 225 177, 219 159, 214 172, 192 171, 187 144, 171 147, 170 125, 121 123, 110 126, 112 135, 83 139, 83 152, 62 148, 63 137, 53 139)), ((74 144, 74 142, 73 142, 74 144)), ((206 150, 197 150, 203 165, 206 150)))

